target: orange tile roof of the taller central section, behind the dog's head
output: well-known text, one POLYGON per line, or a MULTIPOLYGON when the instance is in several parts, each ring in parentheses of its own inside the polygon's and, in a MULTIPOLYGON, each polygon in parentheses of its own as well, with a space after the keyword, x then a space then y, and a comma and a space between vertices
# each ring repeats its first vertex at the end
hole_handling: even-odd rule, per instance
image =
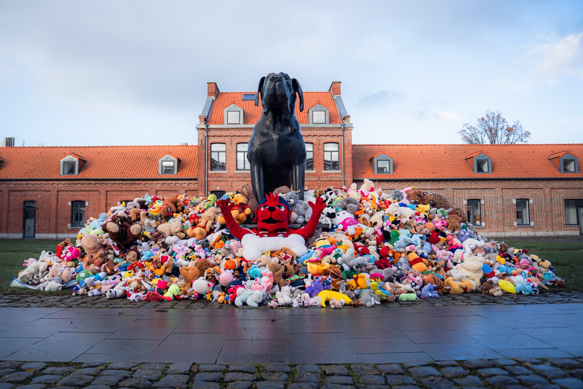
MULTIPOLYGON (((255 124, 263 113, 261 102, 257 107, 255 107, 255 100, 243 100, 244 93, 255 92, 217 93, 212 110, 210 110, 210 116, 207 124, 224 124, 224 108, 229 107, 231 104, 235 104, 237 107, 243 108, 245 113, 244 124, 255 124)), ((322 106, 328 108, 330 124, 340 124, 341 120, 340 115, 338 114, 338 108, 336 108, 336 103, 330 92, 304 92, 303 112, 300 112, 300 101, 296 100, 296 117, 300 124, 308 124, 308 109, 315 106, 316 104, 322 104, 322 106)))

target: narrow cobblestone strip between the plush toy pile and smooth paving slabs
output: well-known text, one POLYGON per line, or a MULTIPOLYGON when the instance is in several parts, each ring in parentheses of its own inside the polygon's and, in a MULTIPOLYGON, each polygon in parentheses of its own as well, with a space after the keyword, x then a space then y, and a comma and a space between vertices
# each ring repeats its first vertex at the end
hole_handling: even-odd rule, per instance
MULTIPOLYGON (((487 304, 556 304, 583 303, 581 292, 546 292, 539 295, 504 295, 500 297, 468 293, 445 295, 440 299, 419 299, 415 302, 381 304, 380 307, 413 306, 463 306, 487 304)), ((104 297, 63 295, 0 295, 0 307, 78 307, 78 308, 180 308, 180 309, 229 309, 207 300, 173 300, 171 302, 129 302, 127 299, 108 300, 104 297)), ((375 309, 378 309, 376 307, 375 309)), ((262 306, 262 309, 270 309, 262 306)), ((285 308, 278 308, 285 309, 285 308)), ((350 309, 347 307, 347 309, 350 309)))

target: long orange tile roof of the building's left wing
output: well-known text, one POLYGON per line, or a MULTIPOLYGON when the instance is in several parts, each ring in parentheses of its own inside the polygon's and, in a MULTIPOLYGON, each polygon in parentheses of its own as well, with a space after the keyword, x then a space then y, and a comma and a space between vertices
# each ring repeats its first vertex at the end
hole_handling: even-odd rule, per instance
POLYGON ((3 147, 0 180, 59 178, 194 178, 197 146, 58 146, 3 147), (158 174, 158 160, 166 154, 180 159, 177 174, 158 174), (76 176, 61 176, 60 161, 82 156, 85 164, 76 176))

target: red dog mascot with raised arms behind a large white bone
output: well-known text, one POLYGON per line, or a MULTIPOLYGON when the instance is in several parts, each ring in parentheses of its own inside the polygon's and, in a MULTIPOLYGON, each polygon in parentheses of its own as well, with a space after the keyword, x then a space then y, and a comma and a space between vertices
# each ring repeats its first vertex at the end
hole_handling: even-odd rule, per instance
POLYGON ((298 257, 307 253, 305 242, 310 239, 318 226, 320 213, 324 209, 324 201, 317 199, 310 203, 312 216, 307 225, 300 229, 289 228, 291 208, 287 201, 273 193, 266 195, 259 204, 255 215, 257 229, 243 229, 233 219, 230 211, 234 205, 226 201, 219 203, 229 232, 243 244, 243 257, 247 261, 257 260, 262 253, 281 250, 287 247, 298 257))

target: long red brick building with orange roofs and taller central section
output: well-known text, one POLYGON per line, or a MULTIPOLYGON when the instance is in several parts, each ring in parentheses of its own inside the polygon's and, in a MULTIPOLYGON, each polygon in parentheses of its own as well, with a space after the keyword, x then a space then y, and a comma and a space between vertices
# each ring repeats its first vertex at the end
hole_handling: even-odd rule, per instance
MULTIPOLYGON (((370 178, 445 195, 486 236, 582 232, 583 144, 353 145, 340 82, 304 92, 304 107, 307 188, 370 178)), ((237 190, 250 182, 247 142, 261 112, 255 92, 210 82, 198 145, 0 148, 0 237, 74 236, 89 216, 146 192, 237 190)))

